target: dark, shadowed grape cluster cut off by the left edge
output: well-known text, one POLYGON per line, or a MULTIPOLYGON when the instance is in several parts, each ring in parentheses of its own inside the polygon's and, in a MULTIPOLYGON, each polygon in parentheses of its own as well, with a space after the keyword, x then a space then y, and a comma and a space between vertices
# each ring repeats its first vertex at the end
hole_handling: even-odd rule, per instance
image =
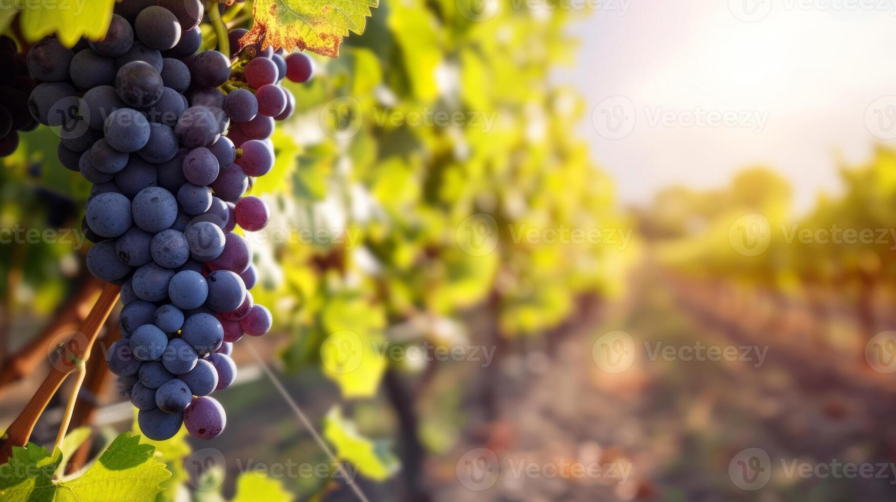
POLYGON ((19 131, 38 126, 28 113, 28 96, 36 82, 28 71, 30 61, 5 35, 0 36, 0 61, 8 64, 0 72, 0 157, 5 157, 19 146, 19 131))

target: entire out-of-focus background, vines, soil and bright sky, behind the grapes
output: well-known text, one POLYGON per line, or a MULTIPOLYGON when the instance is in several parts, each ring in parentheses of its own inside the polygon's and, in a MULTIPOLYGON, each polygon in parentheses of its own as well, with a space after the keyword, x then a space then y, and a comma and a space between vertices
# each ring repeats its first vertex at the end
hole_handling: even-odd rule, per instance
MULTIPOLYGON (((247 236, 276 326, 161 498, 896 497, 894 12, 383 1, 287 84, 247 236)), ((54 139, 0 169, 3 427, 99 294, 54 139)), ((134 427, 90 365, 76 464, 134 427)))

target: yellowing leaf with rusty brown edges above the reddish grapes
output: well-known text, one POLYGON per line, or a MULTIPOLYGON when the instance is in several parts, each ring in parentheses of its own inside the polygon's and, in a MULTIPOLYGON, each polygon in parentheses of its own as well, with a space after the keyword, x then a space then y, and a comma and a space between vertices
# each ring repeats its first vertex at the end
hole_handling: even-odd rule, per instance
POLYGON ((252 30, 240 45, 261 43, 291 51, 309 50, 339 56, 339 45, 349 31, 361 34, 370 8, 379 0, 256 0, 252 30))

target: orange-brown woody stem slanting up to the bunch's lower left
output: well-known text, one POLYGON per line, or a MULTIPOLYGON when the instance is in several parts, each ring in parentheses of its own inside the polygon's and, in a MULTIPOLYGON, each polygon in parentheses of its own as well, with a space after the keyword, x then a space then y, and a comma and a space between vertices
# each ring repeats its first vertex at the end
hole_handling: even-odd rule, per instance
MULTIPOLYGON (((37 392, 31 396, 25 409, 19 413, 19 416, 13 420, 9 428, 6 428, 3 437, 0 437, 0 463, 6 463, 13 454, 13 446, 26 446, 34 430, 35 424, 38 422, 40 415, 47 409, 50 399, 59 390, 59 386, 65 381, 65 377, 71 375, 78 370, 79 365, 90 357, 90 349, 93 342, 96 341, 99 334, 99 328, 106 322, 112 308, 118 301, 121 294, 121 286, 115 284, 106 284, 102 293, 99 294, 97 303, 90 310, 90 314, 84 319, 81 325, 80 333, 76 333, 72 340, 65 343, 62 354, 56 364, 52 365, 50 372, 44 381, 40 384, 37 392)), ((83 375, 83 372, 82 372, 83 375)), ((82 379, 82 376, 80 376, 82 379)), ((73 400, 77 399, 78 391, 81 383, 76 382, 73 388, 73 400)), ((63 420, 65 428, 68 426, 68 418, 71 412, 66 411, 67 418, 63 420)), ((63 432, 64 434, 64 432, 63 432)), ((58 438, 57 438, 58 442, 58 438)))

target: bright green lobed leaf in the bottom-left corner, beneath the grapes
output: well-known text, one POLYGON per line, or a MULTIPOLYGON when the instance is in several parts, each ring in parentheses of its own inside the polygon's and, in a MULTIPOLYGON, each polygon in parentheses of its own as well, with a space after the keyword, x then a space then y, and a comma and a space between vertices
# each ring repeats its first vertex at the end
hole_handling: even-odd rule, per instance
POLYGON ((165 464, 152 458, 155 448, 141 445, 131 433, 116 437, 97 462, 81 476, 53 482, 53 472, 62 463, 62 450, 51 455, 29 443, 13 447, 9 463, 0 466, 0 499, 6 502, 69 502, 80 500, 151 500, 159 483, 171 475, 165 464))

